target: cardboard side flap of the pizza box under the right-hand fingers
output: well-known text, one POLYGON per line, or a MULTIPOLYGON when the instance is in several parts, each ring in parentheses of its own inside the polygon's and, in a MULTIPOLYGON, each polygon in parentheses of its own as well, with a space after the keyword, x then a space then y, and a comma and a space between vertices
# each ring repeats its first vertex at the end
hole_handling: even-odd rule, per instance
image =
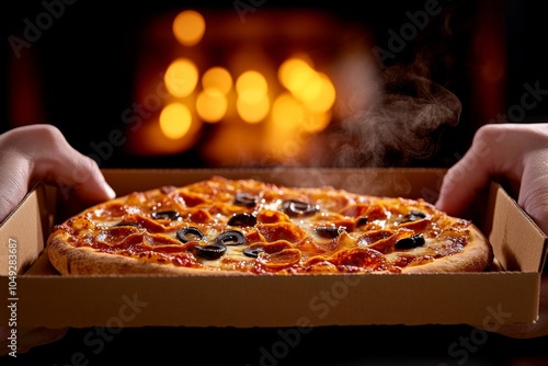
POLYGON ((548 238, 498 183, 491 183, 487 209, 492 220, 483 232, 500 265, 506 271, 541 272, 548 238))

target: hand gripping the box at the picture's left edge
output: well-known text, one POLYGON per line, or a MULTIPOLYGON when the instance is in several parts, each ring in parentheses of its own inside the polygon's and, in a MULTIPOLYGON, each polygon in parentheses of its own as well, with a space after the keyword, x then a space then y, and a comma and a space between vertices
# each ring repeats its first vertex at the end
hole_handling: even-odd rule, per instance
MULTIPOLYGON (((98 164, 75 150, 50 125, 18 127, 0 135, 0 222, 37 182, 62 185, 78 199, 92 203, 113 198, 98 164), (68 188, 69 187, 69 188, 68 188)), ((18 329, 16 353, 59 340, 66 329, 18 329)), ((0 356, 8 355, 11 329, 0 325, 0 356)))

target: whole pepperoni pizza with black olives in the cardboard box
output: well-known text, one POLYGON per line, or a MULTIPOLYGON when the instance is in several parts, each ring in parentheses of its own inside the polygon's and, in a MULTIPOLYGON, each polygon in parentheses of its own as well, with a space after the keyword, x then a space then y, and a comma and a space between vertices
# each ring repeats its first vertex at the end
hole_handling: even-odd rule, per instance
POLYGON ((467 219, 422 198, 214 175, 133 192, 57 224, 62 275, 305 275, 486 271, 492 250, 467 219))

